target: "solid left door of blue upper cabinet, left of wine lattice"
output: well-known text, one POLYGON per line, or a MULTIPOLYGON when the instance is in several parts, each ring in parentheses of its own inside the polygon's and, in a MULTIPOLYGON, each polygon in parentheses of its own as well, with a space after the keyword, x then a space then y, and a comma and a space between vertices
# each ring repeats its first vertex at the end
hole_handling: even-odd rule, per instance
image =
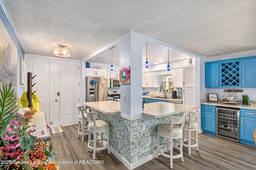
POLYGON ((205 64, 205 87, 219 87, 219 63, 205 64))

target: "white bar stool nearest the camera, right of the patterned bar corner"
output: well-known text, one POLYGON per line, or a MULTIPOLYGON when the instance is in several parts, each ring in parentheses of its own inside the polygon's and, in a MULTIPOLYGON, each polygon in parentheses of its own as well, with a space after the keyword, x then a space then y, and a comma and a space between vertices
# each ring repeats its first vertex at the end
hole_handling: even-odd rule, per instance
POLYGON ((158 154, 161 154, 167 158, 170 158, 170 168, 173 167, 173 159, 181 158, 182 162, 183 159, 183 152, 182 152, 182 134, 183 134, 183 126, 185 123, 185 114, 182 117, 168 117, 168 124, 158 125, 157 127, 157 152, 156 158, 158 158, 158 154), (166 144, 160 145, 160 136, 167 138, 166 144), (180 147, 173 145, 173 139, 180 139, 180 147), (169 151, 170 146, 170 154, 165 154, 160 150, 160 147, 167 146, 167 153, 169 151), (180 153, 178 155, 173 155, 173 148, 178 149, 180 153))

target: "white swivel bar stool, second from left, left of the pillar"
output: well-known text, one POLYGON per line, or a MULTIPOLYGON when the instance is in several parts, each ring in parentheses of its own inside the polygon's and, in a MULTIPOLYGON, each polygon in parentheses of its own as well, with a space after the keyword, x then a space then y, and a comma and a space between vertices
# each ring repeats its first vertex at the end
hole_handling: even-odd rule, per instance
POLYGON ((110 147, 109 147, 109 127, 110 123, 105 120, 96 120, 98 119, 97 112, 90 112, 89 109, 86 109, 87 117, 88 117, 88 147, 87 152, 93 150, 92 159, 95 159, 96 150, 108 149, 108 154, 110 154, 110 147), (103 138, 103 132, 107 133, 107 139, 103 138), (93 140, 91 140, 91 133, 93 133, 93 140), (101 139, 97 139, 97 133, 101 133, 101 139), (98 140, 101 140, 101 147, 96 147, 96 143, 98 140), (106 141, 106 145, 103 146, 103 141, 106 141), (93 147, 90 146, 90 143, 93 142, 93 147))

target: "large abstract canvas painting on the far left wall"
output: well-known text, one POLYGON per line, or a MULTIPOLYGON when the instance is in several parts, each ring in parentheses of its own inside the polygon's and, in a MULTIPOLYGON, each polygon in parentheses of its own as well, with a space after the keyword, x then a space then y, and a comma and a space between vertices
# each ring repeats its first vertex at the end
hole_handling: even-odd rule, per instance
POLYGON ((0 20, 0 88, 4 84, 9 86, 12 82, 12 89, 17 94, 17 49, 0 20))

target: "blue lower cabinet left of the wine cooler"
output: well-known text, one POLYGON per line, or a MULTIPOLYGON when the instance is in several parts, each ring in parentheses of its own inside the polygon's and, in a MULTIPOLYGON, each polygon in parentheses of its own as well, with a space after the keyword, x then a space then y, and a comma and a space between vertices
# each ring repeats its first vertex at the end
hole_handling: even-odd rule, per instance
POLYGON ((202 105, 201 108, 203 132, 216 136, 216 106, 202 105))

